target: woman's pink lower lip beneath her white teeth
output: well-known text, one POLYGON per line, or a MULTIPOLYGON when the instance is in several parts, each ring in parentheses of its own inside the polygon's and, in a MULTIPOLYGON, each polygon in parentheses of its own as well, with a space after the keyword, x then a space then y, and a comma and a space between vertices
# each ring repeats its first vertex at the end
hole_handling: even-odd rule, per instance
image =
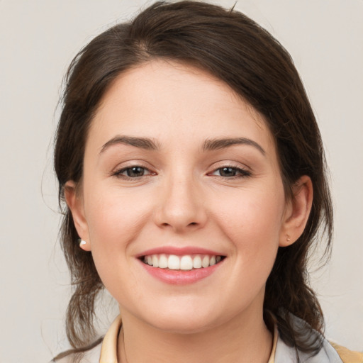
POLYGON ((218 262, 218 264, 213 264, 210 267, 202 267, 200 269, 190 269, 190 270, 173 270, 173 269, 160 269, 159 267, 151 267, 148 264, 140 261, 144 269, 160 281, 166 282, 167 284, 174 285, 185 285, 185 284, 194 284, 197 281, 205 279, 208 276, 211 276, 213 272, 218 269, 222 262, 218 262))

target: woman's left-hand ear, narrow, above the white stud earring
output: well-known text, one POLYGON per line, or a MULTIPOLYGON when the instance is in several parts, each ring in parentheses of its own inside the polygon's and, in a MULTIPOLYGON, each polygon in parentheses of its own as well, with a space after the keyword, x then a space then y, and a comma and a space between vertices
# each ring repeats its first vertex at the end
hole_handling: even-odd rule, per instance
POLYGON ((86 241, 86 244, 80 245, 79 247, 81 247, 82 250, 91 251, 89 229, 84 216, 83 199, 82 196, 77 193, 77 184, 72 180, 67 181, 65 184, 65 201, 72 213, 74 227, 76 228, 79 237, 86 241))

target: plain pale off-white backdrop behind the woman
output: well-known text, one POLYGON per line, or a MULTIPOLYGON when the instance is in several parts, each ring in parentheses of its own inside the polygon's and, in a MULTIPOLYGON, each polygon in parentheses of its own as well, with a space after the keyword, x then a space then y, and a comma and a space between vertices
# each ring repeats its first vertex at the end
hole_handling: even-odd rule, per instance
MULTIPOLYGON (((52 174, 62 77, 83 45, 145 4, 0 0, 1 363, 48 362, 67 346, 70 287, 52 174)), ((291 52, 311 99, 335 201, 333 257, 311 282, 326 335, 363 350, 363 1, 239 0, 236 9, 291 52)))

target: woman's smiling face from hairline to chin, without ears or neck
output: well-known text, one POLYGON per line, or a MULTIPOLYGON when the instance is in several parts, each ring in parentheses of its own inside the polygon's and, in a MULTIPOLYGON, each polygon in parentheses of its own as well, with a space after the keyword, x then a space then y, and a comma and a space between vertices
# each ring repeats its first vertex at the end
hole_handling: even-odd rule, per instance
POLYGON ((289 208, 264 119, 211 75, 162 61, 121 74, 69 204, 122 314, 183 332, 262 314, 289 208))

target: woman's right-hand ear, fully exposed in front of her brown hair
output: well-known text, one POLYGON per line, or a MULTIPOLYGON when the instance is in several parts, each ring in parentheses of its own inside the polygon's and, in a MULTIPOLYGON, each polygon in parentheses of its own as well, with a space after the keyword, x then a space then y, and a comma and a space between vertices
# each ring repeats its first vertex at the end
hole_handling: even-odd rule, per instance
POLYGON ((293 188, 293 196, 286 203, 286 211, 280 232, 280 247, 292 245, 303 233, 313 203, 313 183, 303 175, 293 188))

